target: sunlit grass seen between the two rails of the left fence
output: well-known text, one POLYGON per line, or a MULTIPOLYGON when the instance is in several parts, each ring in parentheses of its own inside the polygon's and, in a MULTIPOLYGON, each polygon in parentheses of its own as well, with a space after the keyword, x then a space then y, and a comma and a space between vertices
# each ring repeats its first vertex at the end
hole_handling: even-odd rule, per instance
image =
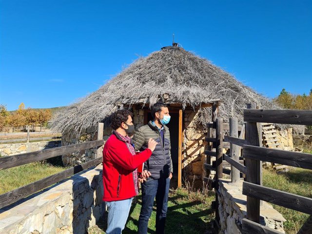
POLYGON ((57 174, 65 169, 64 167, 52 166, 47 163, 34 162, 0 170, 0 194, 57 174))

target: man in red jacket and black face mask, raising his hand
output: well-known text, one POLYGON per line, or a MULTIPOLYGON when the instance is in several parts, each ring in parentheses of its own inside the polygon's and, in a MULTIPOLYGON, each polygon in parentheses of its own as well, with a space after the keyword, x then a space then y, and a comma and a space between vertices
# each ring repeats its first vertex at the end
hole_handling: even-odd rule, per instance
POLYGON ((103 201, 108 209, 106 234, 121 234, 132 199, 138 194, 137 167, 152 155, 157 142, 149 139, 148 148, 136 153, 128 136, 135 130, 132 113, 118 110, 111 120, 114 131, 103 149, 103 201))

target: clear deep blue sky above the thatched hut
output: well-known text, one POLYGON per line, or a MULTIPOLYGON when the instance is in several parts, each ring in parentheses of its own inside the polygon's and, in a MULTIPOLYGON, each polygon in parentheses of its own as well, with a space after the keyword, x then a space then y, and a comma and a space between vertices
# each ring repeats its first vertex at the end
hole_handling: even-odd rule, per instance
POLYGON ((269 98, 312 88, 311 0, 0 0, 0 104, 68 105, 173 33, 269 98))

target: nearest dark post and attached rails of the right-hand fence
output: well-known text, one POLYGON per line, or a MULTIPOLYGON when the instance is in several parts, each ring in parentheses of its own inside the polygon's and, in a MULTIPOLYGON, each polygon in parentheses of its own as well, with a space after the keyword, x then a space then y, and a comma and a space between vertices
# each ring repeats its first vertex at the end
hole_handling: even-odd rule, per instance
MULTIPOLYGON (((280 124, 301 124, 312 125, 312 111, 302 110, 244 110, 244 121, 247 121, 247 144, 243 145, 243 156, 246 158, 247 175, 243 182, 243 194, 247 195, 247 218, 243 221, 244 234, 274 233, 273 230, 266 230, 260 227, 259 200, 280 205, 292 210, 312 215, 312 199, 300 195, 264 187, 260 184, 258 164, 261 161, 268 161, 312 169, 312 155, 290 152, 285 150, 269 149, 259 147, 253 142, 257 141, 256 126, 258 122, 280 123, 280 124), (254 221, 254 222, 252 222, 254 221), (248 228, 246 228, 248 226, 248 228), (245 229, 244 229, 245 227, 245 229)), ((312 233, 312 216, 306 221, 298 234, 312 233), (309 230, 309 232, 306 232, 309 230)))

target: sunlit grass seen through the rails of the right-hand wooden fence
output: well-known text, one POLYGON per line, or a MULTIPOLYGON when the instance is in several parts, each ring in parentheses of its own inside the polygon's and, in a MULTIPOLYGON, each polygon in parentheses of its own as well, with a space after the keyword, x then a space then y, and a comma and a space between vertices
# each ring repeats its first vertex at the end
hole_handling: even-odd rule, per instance
MULTIPOLYGON (((273 170, 263 169, 263 185, 284 192, 312 198, 312 171, 291 168, 289 172, 277 174, 273 170)), ((287 220, 284 222, 286 234, 296 234, 309 215, 273 205, 287 220)))

